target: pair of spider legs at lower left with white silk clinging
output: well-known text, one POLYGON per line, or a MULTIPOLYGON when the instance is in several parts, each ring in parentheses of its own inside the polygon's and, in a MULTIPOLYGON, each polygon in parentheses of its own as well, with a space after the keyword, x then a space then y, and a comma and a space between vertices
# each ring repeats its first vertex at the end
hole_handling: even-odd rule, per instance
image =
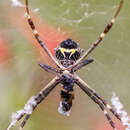
POLYGON ((20 125, 20 130, 25 126, 27 123, 30 115, 35 110, 35 108, 40 104, 48 94, 60 83, 60 79, 56 76, 48 85, 46 85, 36 96, 31 97, 28 102, 25 104, 23 110, 19 110, 16 112, 15 117, 12 118, 12 122, 10 123, 7 130, 10 130, 15 123, 25 116, 24 120, 20 125))

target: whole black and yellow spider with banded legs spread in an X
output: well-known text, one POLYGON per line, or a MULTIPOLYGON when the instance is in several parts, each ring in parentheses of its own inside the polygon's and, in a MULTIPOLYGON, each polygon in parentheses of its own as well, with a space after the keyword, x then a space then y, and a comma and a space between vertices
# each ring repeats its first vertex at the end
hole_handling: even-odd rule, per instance
MULTIPOLYGON (((36 96, 31 97, 28 100, 27 104, 25 104, 24 110, 19 112, 15 122, 19 121, 20 119, 22 119, 23 116, 25 116, 24 120, 20 125, 20 130, 25 126, 27 120, 29 119, 30 115, 35 110, 35 108, 38 106, 38 104, 40 104, 59 83, 62 84, 62 90, 60 93, 61 102, 58 108, 58 111, 61 114, 69 115, 70 109, 72 107, 72 100, 74 99, 73 87, 74 84, 77 84, 77 86, 79 86, 92 99, 92 101, 94 101, 100 107, 113 130, 116 130, 115 124, 112 121, 106 109, 112 112, 112 114, 121 121, 120 115, 115 110, 113 110, 112 107, 109 104, 107 104, 107 102, 101 96, 99 96, 94 89, 89 87, 87 83, 85 83, 79 76, 77 76, 75 72, 84 67, 85 65, 93 62, 93 59, 85 58, 96 48, 96 46, 109 32, 116 20, 117 15, 120 12, 122 5, 123 0, 121 0, 114 17, 106 26, 103 33, 100 34, 98 39, 94 43, 92 43, 90 48, 83 55, 82 49, 79 47, 79 45, 72 39, 68 38, 61 42, 59 46, 55 49, 54 57, 46 47, 45 43, 40 39, 39 34, 35 29, 34 23, 29 14, 28 0, 26 0, 26 12, 28 23, 33 31, 33 34, 37 42, 48 54, 48 56, 55 63, 58 69, 39 63, 39 66, 42 69, 55 74, 56 77, 52 79, 52 81, 49 82, 36 96)), ((9 130, 9 128, 10 126, 7 128, 7 130, 9 130)))

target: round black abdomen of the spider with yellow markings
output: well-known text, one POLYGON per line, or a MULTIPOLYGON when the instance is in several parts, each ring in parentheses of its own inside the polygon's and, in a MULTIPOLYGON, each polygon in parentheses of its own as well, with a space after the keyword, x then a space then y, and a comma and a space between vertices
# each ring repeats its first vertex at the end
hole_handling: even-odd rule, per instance
POLYGON ((55 49, 55 56, 64 67, 74 64, 81 56, 82 49, 72 39, 66 39, 55 49))

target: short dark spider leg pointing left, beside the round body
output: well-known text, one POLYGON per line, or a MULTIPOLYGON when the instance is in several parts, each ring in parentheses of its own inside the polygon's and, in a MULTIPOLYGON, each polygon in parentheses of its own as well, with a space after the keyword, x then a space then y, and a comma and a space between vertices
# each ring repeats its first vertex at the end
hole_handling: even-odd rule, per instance
POLYGON ((53 74, 58 74, 58 73, 60 73, 59 70, 57 70, 56 68, 53 68, 52 66, 45 65, 45 64, 42 64, 42 63, 39 63, 38 65, 39 65, 42 69, 44 69, 45 71, 47 71, 47 72, 50 72, 50 73, 53 73, 53 74))

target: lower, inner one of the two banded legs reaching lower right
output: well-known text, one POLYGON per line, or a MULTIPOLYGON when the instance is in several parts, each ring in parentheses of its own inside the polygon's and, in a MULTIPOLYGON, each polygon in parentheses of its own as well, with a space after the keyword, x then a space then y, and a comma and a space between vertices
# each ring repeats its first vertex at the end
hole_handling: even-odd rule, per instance
POLYGON ((93 93, 91 91, 89 91, 89 89, 86 89, 80 81, 76 80, 75 83, 101 108, 101 110, 103 111, 104 115, 106 116, 106 118, 109 121, 113 130, 116 130, 115 124, 112 121, 112 119, 111 119, 110 115, 108 114, 107 110, 105 109, 104 104, 102 102, 100 102, 100 100, 96 96, 94 96, 93 93))

